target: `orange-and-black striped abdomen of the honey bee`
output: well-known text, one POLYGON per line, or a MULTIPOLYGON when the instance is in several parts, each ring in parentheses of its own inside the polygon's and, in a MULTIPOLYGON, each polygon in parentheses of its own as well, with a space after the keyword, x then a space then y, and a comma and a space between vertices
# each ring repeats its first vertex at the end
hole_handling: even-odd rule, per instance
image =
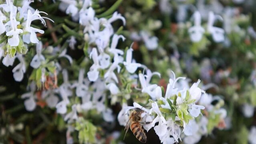
POLYGON ((139 122, 131 122, 130 129, 140 142, 146 143, 147 136, 139 122))

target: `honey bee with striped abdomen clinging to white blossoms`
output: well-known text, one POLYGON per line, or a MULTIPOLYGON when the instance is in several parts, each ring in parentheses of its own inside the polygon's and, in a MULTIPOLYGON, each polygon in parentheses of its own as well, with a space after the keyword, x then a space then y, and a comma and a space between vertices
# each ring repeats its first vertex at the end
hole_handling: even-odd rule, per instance
MULTIPOLYGON (((142 143, 146 143, 147 141, 147 136, 144 132, 144 129, 142 128, 143 122, 141 122, 142 118, 141 118, 141 114, 145 112, 144 110, 141 110, 140 108, 135 108, 130 116, 129 116, 129 120, 125 126, 125 135, 129 130, 129 127, 131 129, 131 131, 133 132, 134 136, 142 143)), ((125 139, 125 137, 123 138, 125 139)))

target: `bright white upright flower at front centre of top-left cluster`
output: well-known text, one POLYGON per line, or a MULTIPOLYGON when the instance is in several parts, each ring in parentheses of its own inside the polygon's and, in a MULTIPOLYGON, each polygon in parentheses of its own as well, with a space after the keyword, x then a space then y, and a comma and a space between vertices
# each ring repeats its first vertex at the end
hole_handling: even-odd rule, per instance
POLYGON ((17 13, 17 7, 14 6, 11 2, 10 4, 10 21, 6 24, 10 24, 12 29, 8 32, 6 32, 6 36, 8 36, 8 44, 10 46, 18 46, 20 42, 19 34, 22 33, 22 29, 17 28, 18 24, 20 22, 17 22, 16 20, 16 13, 17 13), (12 36, 10 38, 10 36, 12 36))

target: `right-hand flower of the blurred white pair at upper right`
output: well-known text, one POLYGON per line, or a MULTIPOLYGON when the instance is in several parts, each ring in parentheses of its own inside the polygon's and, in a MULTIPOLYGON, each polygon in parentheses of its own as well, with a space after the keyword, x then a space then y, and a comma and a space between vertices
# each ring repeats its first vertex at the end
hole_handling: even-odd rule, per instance
POLYGON ((218 15, 214 15, 213 12, 209 12, 207 30, 212 34, 212 38, 215 42, 223 42, 225 39, 224 30, 222 28, 218 28, 214 26, 214 21, 217 19, 222 20, 222 17, 218 15))

